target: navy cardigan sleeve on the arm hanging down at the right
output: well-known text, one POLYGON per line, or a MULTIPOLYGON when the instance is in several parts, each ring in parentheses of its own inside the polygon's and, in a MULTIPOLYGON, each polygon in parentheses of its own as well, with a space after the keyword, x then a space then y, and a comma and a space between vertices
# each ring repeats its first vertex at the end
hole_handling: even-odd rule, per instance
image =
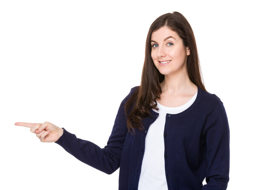
POLYGON ((230 167, 230 130, 220 102, 208 115, 206 129, 206 182, 201 190, 226 190, 230 167))

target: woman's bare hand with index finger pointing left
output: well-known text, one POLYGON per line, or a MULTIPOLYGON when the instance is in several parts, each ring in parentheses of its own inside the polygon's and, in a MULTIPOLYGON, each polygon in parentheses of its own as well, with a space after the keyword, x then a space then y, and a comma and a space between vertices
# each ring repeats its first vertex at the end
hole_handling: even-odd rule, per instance
POLYGON ((49 122, 42 123, 24 123, 17 122, 15 125, 29 127, 30 131, 35 133, 41 142, 55 142, 63 135, 63 129, 49 122))

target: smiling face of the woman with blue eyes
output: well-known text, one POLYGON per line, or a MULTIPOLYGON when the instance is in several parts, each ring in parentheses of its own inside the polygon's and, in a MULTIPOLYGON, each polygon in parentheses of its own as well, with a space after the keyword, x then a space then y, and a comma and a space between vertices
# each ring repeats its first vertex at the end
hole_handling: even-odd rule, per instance
POLYGON ((151 35, 151 58, 163 75, 175 75, 186 71, 189 48, 183 45, 180 36, 163 26, 151 35))

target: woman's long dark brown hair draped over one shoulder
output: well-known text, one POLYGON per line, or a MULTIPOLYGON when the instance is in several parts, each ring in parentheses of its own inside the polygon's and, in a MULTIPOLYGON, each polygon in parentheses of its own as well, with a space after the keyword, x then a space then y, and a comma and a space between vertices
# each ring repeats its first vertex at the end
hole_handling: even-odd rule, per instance
MULTIPOLYGON (((201 67, 193 30, 186 18, 179 12, 167 13, 158 17, 150 26, 145 46, 145 60, 141 76, 141 84, 125 102, 125 115, 129 132, 135 129, 143 130, 143 118, 151 115, 150 109, 157 109, 157 98, 162 93, 160 83, 164 79, 151 58, 151 35, 163 26, 176 32, 183 40, 183 45, 189 47, 187 57, 187 72, 192 83, 206 91, 201 79, 201 67), (129 112, 129 110, 131 110, 129 112), (129 114, 128 114, 129 112, 129 114)), ((152 116, 152 115, 151 115, 152 116)))

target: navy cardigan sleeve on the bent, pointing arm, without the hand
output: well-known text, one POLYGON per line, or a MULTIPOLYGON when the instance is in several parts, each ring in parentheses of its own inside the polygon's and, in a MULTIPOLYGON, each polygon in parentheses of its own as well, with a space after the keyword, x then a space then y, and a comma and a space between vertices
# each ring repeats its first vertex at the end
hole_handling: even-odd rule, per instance
POLYGON ((90 141, 77 138, 76 135, 67 132, 64 128, 63 135, 55 143, 80 161, 104 173, 111 174, 116 171, 119 168, 122 147, 128 132, 124 104, 130 97, 131 91, 120 104, 111 135, 104 148, 100 148, 90 141))

